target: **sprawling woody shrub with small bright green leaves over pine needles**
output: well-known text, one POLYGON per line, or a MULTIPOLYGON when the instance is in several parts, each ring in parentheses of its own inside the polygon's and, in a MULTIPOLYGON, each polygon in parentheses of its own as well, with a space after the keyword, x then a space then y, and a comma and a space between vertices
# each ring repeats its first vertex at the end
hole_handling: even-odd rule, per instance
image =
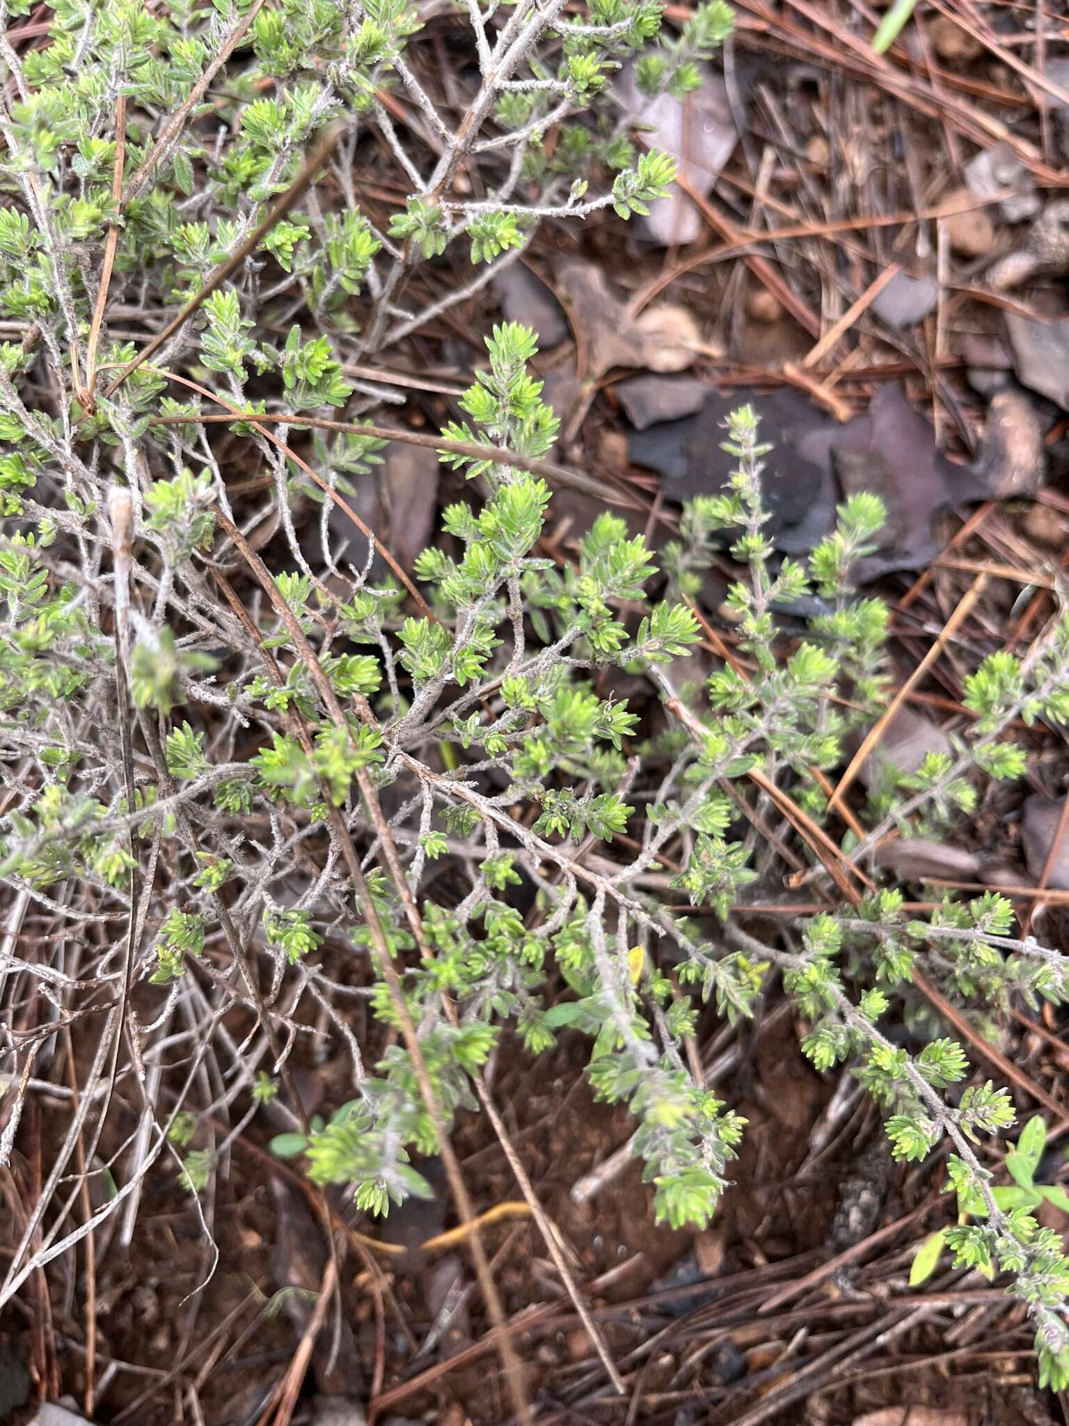
MULTIPOLYGON (((993 1015, 1013 997, 1063 1001, 1065 960, 1015 937, 998 896, 918 918, 864 867, 888 831, 938 834, 985 781, 1021 776, 1012 727, 1069 713, 1069 623, 1028 665, 983 660, 968 734, 889 773, 840 844, 827 774, 889 692, 888 610, 851 585, 879 502, 852 496, 807 562, 778 562, 767 448, 741 409, 724 492, 691 502, 661 555, 607 511, 559 568, 539 545, 557 422, 530 372, 536 337, 509 324, 442 436, 473 493, 445 511, 415 582, 396 565, 372 579, 371 552, 363 570, 332 553, 329 506, 346 508, 382 446, 335 419, 368 399, 349 368, 468 299, 539 218, 644 212, 673 164, 636 148, 640 116, 616 113, 613 68, 637 57, 641 93, 688 93, 727 7, 700 7, 657 47, 650 0, 590 0, 582 21, 563 0, 472 4, 456 20, 479 77, 456 125, 409 63, 419 21, 403 0, 175 0, 165 16, 57 0, 53 14, 50 43, 3 48, 0 309, 17 339, 0 347, 0 863, 19 914, 68 923, 80 950, 71 971, 13 943, 7 968, 98 1017, 94 1074, 121 1035, 185 1045, 165 1132, 101 1216, 188 1145, 217 1042, 235 1077, 217 1102, 247 1092, 255 1112, 315 1015, 345 1045, 353 1098, 278 1149, 316 1182, 351 1184, 368 1212, 428 1191, 410 1155, 477 1108, 509 1025, 533 1055, 562 1031, 590 1040, 590 1084, 636 1117, 659 1218, 704 1225, 744 1124, 694 1078, 688 1040, 701 1001, 750 1015, 775 973, 805 1054, 857 1067, 897 1158, 948 1141, 974 1221, 945 1242, 958 1263, 1009 1275, 1042 1379, 1068 1385, 1069 1263, 974 1148, 1013 1122, 1006 1091, 965 1084, 954 1040, 912 1054, 881 1028, 919 968, 993 1015), (386 222, 358 201, 368 135, 409 190, 386 222), (472 174, 487 198, 465 197, 472 174), (463 242, 475 279, 402 305, 413 274, 463 242), (124 322, 145 317, 130 337, 124 322), (306 501, 324 511, 318 568, 294 522, 306 501), (275 529, 265 562, 255 546, 275 529), (703 635, 690 599, 724 550, 745 662, 703 684, 687 673, 703 635), (808 596, 821 612, 807 637, 783 637, 777 609, 808 596), (640 713, 614 693, 624 677, 647 690, 640 713), (802 833, 828 901, 784 944, 734 910, 774 864, 740 840, 750 787, 802 833), (456 897, 435 890, 440 858, 456 897), (401 1032, 373 1065, 345 1012, 361 994, 401 1032), (222 1028, 234 1007, 251 1027, 241 1045, 222 1028)), ((3 1155, 16 1128, 17 1114, 3 1155)), ((214 1155, 184 1164, 202 1191, 214 1155)), ((13 1263, 6 1295, 34 1261, 13 1263)))

